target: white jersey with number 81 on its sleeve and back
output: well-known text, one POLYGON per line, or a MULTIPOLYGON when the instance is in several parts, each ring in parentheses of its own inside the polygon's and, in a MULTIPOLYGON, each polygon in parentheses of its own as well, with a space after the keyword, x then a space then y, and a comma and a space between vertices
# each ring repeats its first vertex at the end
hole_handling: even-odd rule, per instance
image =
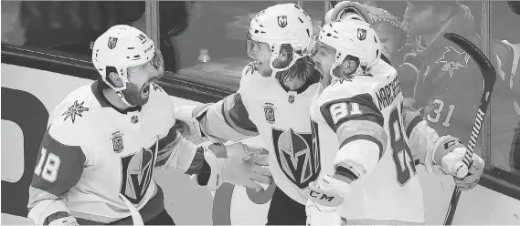
POLYGON ((410 133, 421 118, 417 113, 405 116, 393 67, 380 60, 372 73, 319 89, 311 108, 317 146, 323 155, 335 155, 336 174, 347 172, 354 180, 341 206, 347 224, 424 222, 422 190, 409 146, 410 133))

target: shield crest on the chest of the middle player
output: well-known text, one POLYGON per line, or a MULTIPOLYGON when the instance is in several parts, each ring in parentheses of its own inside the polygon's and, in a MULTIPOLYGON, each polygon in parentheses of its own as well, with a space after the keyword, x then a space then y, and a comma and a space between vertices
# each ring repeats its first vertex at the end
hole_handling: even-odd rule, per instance
POLYGON ((272 128, 272 141, 278 164, 293 184, 304 189, 317 179, 320 153, 313 148, 312 134, 272 128))

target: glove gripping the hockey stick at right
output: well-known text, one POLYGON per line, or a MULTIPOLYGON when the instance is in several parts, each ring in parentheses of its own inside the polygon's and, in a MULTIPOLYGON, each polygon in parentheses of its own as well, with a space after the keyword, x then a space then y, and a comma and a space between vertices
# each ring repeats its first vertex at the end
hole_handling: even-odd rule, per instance
POLYGON ((463 162, 466 151, 460 139, 443 136, 435 144, 432 156, 445 174, 453 176, 459 190, 472 190, 483 174, 484 161, 476 153, 469 166, 463 162))

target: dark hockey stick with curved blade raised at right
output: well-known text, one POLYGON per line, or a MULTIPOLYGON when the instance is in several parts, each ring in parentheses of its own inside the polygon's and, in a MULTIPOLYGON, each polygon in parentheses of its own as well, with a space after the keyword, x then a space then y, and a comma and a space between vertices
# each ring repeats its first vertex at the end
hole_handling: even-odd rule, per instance
MULTIPOLYGON (((483 75, 483 96, 477 110, 475 123, 473 124, 472 134, 470 135, 470 140, 467 146, 468 149, 463 159, 464 164, 466 164, 468 169, 470 169, 474 152, 473 149, 475 148, 477 139, 479 138, 479 133, 483 126, 483 118, 485 117, 489 105, 489 99, 493 92, 494 81, 496 80, 496 71, 494 70, 491 61, 483 54, 479 47, 472 44, 468 39, 454 33, 446 33, 444 34, 444 37, 466 51, 466 53, 468 53, 468 55, 470 55, 476 62, 483 75)), ((455 215, 455 210, 457 209, 457 204, 459 203, 459 198, 461 198, 461 190, 455 187, 455 190, 453 190, 453 194, 451 195, 450 206, 448 207, 448 213, 444 225, 451 225, 451 221, 453 221, 453 216, 455 215)))

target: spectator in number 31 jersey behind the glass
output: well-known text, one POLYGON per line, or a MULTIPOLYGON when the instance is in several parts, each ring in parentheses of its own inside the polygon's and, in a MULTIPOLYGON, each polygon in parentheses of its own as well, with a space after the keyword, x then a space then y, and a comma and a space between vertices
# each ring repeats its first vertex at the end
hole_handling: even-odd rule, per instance
MULTIPOLYGON (((408 2, 404 24, 415 36, 411 45, 416 51, 405 57, 403 67, 417 69, 417 107, 440 135, 450 134, 467 144, 483 79, 470 56, 442 34, 453 32, 480 43, 470 8, 454 1, 408 2)), ((477 143, 480 147, 482 142, 477 143)))

